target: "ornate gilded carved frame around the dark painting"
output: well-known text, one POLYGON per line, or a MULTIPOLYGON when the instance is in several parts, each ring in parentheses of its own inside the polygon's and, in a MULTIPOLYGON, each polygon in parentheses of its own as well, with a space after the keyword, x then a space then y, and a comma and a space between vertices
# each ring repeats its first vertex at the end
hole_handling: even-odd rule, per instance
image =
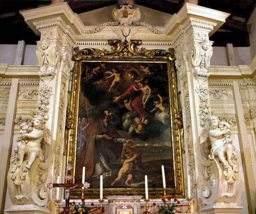
MULTIPOLYGON (((141 45, 140 40, 133 40, 130 42, 121 42, 120 40, 110 40, 108 42, 112 48, 110 50, 100 50, 96 48, 86 48, 79 50, 75 48, 73 60, 74 71, 72 80, 72 90, 70 101, 67 109, 66 121, 66 148, 65 155, 67 155, 66 164, 73 166, 72 175, 73 182, 75 177, 75 159, 76 159, 76 144, 78 132, 78 108, 79 108, 79 91, 81 81, 81 64, 82 61, 121 61, 121 62, 166 62, 168 65, 168 78, 169 78, 169 94, 170 94, 170 115, 171 115, 171 139, 172 139, 172 155, 174 165, 174 179, 175 188, 167 188, 166 195, 183 197, 183 167, 182 167, 182 151, 183 151, 183 127, 182 127, 182 114, 181 106, 179 105, 179 94, 177 93, 177 78, 174 65, 174 49, 152 49, 145 48, 139 49, 137 46, 141 45)), ((143 188, 116 188, 104 189, 104 196, 110 195, 144 195, 143 188)), ((79 189, 73 189, 71 196, 78 197, 81 195, 79 189)), ((85 195, 89 198, 99 197, 99 189, 89 188, 85 191, 85 195)), ((163 197, 162 188, 149 188, 150 198, 163 197)))

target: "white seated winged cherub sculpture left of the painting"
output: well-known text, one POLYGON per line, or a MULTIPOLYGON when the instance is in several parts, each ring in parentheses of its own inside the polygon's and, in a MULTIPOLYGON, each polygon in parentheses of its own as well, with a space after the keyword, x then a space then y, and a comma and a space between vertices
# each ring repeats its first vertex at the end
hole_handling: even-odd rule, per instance
POLYGON ((33 129, 31 132, 21 133, 21 141, 18 144, 18 166, 21 166, 24 160, 24 156, 27 157, 26 168, 30 169, 37 157, 40 161, 44 161, 44 155, 42 153, 41 142, 42 139, 51 145, 51 132, 48 128, 44 128, 44 118, 42 116, 35 116, 31 120, 33 129))

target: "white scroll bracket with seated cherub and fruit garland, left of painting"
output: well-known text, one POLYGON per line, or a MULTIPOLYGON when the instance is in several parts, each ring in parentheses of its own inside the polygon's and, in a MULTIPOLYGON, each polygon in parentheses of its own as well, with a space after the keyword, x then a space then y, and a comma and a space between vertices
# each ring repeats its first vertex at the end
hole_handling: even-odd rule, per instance
POLYGON ((14 204, 37 204, 44 206, 48 201, 46 181, 48 176, 47 158, 51 146, 51 131, 45 127, 52 88, 45 85, 39 91, 40 104, 31 118, 15 119, 20 124, 21 135, 16 139, 18 146, 11 157, 8 172, 9 195, 14 204))

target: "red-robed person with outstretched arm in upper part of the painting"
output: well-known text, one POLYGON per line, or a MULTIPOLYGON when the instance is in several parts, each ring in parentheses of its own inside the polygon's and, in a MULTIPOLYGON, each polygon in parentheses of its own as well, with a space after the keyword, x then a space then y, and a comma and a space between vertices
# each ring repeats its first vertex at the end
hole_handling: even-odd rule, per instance
MULTIPOLYGON (((138 84, 135 82, 136 78, 138 77, 137 73, 135 71, 130 71, 128 73, 128 77, 132 81, 131 85, 128 87, 128 89, 125 91, 125 93, 123 93, 122 95, 120 95, 118 97, 114 97, 114 102, 117 102, 118 100, 123 100, 124 98, 129 97, 132 94, 134 94, 135 90, 133 87, 140 89, 138 84)), ((146 79, 144 82, 147 84, 149 82, 149 80, 146 79)), ((142 97, 143 97, 143 92, 141 92, 141 94, 138 95, 136 98, 134 98, 133 101, 131 102, 131 106, 133 106, 133 108, 140 114, 141 119, 149 117, 149 113, 147 113, 145 111, 145 109, 143 108, 142 97)))

